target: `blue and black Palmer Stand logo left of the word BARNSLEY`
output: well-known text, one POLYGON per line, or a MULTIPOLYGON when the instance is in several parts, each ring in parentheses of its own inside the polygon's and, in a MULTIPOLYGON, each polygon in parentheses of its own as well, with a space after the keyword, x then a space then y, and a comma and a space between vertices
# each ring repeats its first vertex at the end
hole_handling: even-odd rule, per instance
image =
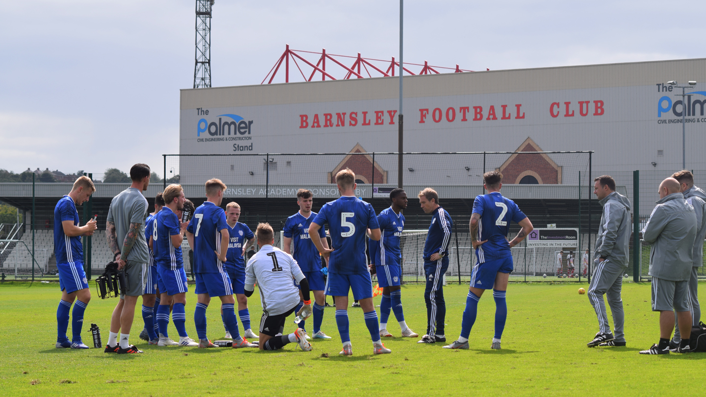
MULTIPOLYGON (((199 116, 208 116, 208 109, 196 109, 199 116)), ((225 141, 251 141, 253 121, 246 121, 237 114, 219 114, 218 121, 209 122, 208 119, 199 119, 196 123, 197 142, 225 142, 225 141), (206 135, 208 133, 208 136, 206 135), (203 134, 203 136, 201 135, 203 134)), ((239 145, 233 143, 234 152, 251 151, 253 144, 239 145)))

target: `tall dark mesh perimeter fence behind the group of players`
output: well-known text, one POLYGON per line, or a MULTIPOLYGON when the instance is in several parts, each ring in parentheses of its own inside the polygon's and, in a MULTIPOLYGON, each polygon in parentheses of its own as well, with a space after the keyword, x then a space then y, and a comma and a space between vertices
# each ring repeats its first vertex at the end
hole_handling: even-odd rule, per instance
MULTIPOLYGON (((203 183, 217 177, 228 186, 222 206, 237 201, 241 206, 240 222, 246 223, 252 230, 260 222, 269 222, 279 231, 287 217, 299 209, 296 201, 298 189, 313 192, 313 211, 318 211, 324 203, 338 197, 335 174, 346 167, 356 174, 357 196, 369 201, 379 213, 390 206, 389 191, 397 186, 398 157, 397 153, 362 152, 164 155, 161 186, 150 186, 145 196, 151 205, 157 191, 168 183, 179 182, 184 186, 187 198, 198 206, 205 201, 203 183)), ((534 241, 526 239, 515 247, 512 280, 583 281, 590 277, 593 245, 602 213, 601 204, 592 194, 592 185, 594 177, 602 174, 616 179, 617 191, 627 196, 633 207, 633 236, 626 274, 631 280, 647 280, 650 247, 640 241, 640 230, 654 208, 659 182, 677 171, 615 170, 614 167, 593 164, 592 152, 587 151, 404 153, 402 165, 402 179, 409 197, 409 205, 404 211, 407 233, 403 239, 402 265, 406 282, 424 280, 418 263, 422 261, 424 230, 429 227, 431 215, 419 208, 417 193, 425 187, 438 191, 439 203, 450 213, 454 223, 447 279, 457 282, 469 279, 472 266, 476 263, 469 238, 469 219, 475 196, 485 193, 482 176, 489 170, 503 173, 503 196, 513 199, 538 231, 548 234, 547 238, 552 233, 566 237, 559 242, 538 241, 542 239, 542 235, 538 234, 534 241), (583 260, 586 249, 590 254, 587 263, 583 260), (561 262, 558 257, 560 251, 563 251, 561 262), (570 275, 574 277, 568 277, 570 275)), ((706 171, 696 170, 693 173, 696 186, 706 186, 706 171)), ((25 225, 21 227, 14 225, 15 230, 20 232, 11 239, 25 242, 30 251, 33 234, 28 232, 35 229, 35 257, 28 256, 27 249, 14 249, 24 247, 17 242, 4 242, 4 247, 0 247, 0 250, 4 249, 0 254, 0 270, 6 277, 16 275, 18 278, 29 278, 34 271, 35 276, 47 278, 56 273, 51 215, 60 196, 49 199, 47 194, 42 193, 42 189, 56 189, 56 185, 59 184, 37 184, 37 196, 42 196, 37 199, 37 216, 26 216, 25 225)), ((107 185, 97 186, 106 189, 107 185)), ((30 189, 25 190, 30 192, 30 189)), ((35 189, 32 188, 31 192, 34 194, 35 189)), ((78 211, 81 213, 82 209, 78 211)), ((84 218, 92 213, 83 212, 84 218)), ((7 225, 6 230, 12 227, 7 225)), ((518 231, 517 225, 511 225, 510 238, 518 231)), ((276 236, 279 237, 279 233, 276 236)), ((85 262, 92 263, 93 274, 100 273, 104 263, 112 258, 104 239, 104 224, 100 223, 94 237, 83 239, 87 256, 85 262)), ((184 262, 187 272, 190 272, 191 265, 186 259, 188 244, 184 244, 184 249, 184 262)), ((702 269, 700 277, 706 278, 702 269)))

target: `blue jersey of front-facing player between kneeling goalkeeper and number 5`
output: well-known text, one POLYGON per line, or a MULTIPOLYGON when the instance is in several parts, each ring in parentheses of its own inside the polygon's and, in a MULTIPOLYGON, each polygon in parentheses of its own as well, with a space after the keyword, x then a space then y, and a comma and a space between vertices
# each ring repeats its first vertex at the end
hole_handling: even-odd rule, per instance
MULTIPOLYGON (((299 263, 301 271, 304 272, 321 270, 321 256, 309 237, 309 225, 311 225, 313 218, 316 218, 316 215, 315 212, 311 211, 309 218, 304 218, 301 213, 297 212, 287 218, 285 230, 283 230, 284 236, 292 239, 292 256, 299 263)), ((325 239, 326 230, 321 227, 318 230, 318 235, 325 239)))

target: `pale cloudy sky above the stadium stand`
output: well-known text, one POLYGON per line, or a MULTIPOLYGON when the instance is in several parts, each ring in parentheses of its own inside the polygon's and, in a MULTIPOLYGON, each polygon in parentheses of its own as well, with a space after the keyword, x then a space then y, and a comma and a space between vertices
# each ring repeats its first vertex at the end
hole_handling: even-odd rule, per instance
MULTIPOLYGON (((194 3, 4 2, 0 169, 161 170, 162 154, 179 153, 179 90, 193 86, 194 3)), ((399 6, 217 0, 212 85, 261 83, 287 44, 397 58, 399 6)), ((695 0, 408 0, 405 61, 499 70, 701 58, 705 14, 695 0)))

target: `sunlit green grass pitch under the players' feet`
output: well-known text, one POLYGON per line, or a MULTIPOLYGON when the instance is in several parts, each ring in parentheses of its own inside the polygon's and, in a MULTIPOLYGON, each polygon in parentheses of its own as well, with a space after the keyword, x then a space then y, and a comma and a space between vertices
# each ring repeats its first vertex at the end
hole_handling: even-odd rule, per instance
MULTIPOLYGON (((373 356, 361 309, 349 308, 352 357, 340 357, 334 309, 324 314, 323 331, 331 340, 314 340, 311 352, 294 344, 276 352, 229 348, 157 348, 138 339, 138 311, 131 343, 142 355, 108 355, 102 349, 56 349, 56 284, 0 285, 0 395, 2 396, 657 396, 686 395, 702 389, 706 354, 642 356, 638 350, 659 340, 656 313, 650 310, 650 285, 623 286, 626 348, 586 348, 597 320, 587 285, 522 285, 508 288, 508 321, 503 350, 491 350, 494 302, 481 298, 470 350, 445 350, 417 339, 389 338, 390 355, 373 356), (329 357, 322 357, 328 353, 329 357)), ((703 296, 705 285, 700 285, 703 296)), ((193 287, 191 287, 193 291, 193 287)), ((467 285, 444 289, 449 341, 460 332, 467 285)), ((256 292, 257 294, 257 292, 256 292)), ((187 331, 196 337, 187 295, 187 331)), ((379 304, 380 297, 375 298, 379 304)), ((330 298, 329 298, 330 302, 330 298)), ((424 286, 402 288, 407 324, 424 333, 424 286)), ((116 298, 92 297, 85 314, 84 338, 96 323, 107 340, 116 298)), ((250 299, 253 325, 261 314, 259 298, 250 299)), ((208 315, 209 338, 222 338, 218 304, 208 315)), ((293 317, 287 331, 294 329, 293 317)), ((176 334, 172 324, 169 332, 176 334)), ((307 328, 311 327, 308 321, 307 328)), ((388 329, 399 336, 394 315, 388 329)), ((69 337, 71 324, 69 324, 69 337)), ((241 328, 242 331, 242 328, 241 328)), ((311 329, 309 329, 311 332, 311 329)))

